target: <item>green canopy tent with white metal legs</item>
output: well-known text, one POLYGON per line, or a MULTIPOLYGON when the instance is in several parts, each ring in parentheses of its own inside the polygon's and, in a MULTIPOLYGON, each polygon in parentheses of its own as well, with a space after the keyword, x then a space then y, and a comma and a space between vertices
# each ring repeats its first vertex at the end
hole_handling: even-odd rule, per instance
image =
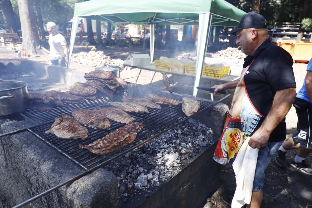
POLYGON ((236 27, 245 14, 224 0, 91 0, 75 4, 67 67, 76 38, 79 17, 105 22, 149 24, 150 57, 154 59, 155 25, 199 25, 193 96, 197 95, 211 26, 236 27))

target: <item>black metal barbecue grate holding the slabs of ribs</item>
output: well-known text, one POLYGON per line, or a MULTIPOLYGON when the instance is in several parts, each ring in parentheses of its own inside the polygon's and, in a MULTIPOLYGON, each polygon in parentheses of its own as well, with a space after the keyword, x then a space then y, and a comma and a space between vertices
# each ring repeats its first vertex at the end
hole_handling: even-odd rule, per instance
MULTIPOLYGON (((149 93, 172 99, 182 100, 181 95, 169 94, 165 91, 160 91, 158 89, 147 87, 144 85, 128 83, 128 86, 129 87, 124 91, 123 96, 119 97, 114 96, 113 98, 104 97, 96 100, 87 100, 82 104, 66 104, 65 107, 55 107, 49 112, 40 112, 33 108, 29 108, 25 111, 24 114, 30 117, 31 119, 34 119, 37 122, 41 123, 38 126, 29 128, 29 130, 38 138, 48 143, 57 151, 61 152, 63 155, 71 159, 77 165, 87 170, 92 167, 95 167, 100 163, 109 160, 110 158, 116 156, 117 154, 120 154, 121 151, 127 152, 127 150, 133 147, 134 145, 142 141, 144 142, 144 140, 152 137, 155 134, 158 134, 163 130, 173 128, 177 123, 181 123, 188 118, 182 111, 181 107, 182 104, 179 104, 177 106, 168 106, 160 104, 162 109, 148 108, 149 114, 127 112, 130 116, 136 119, 137 122, 143 122, 144 128, 138 133, 137 138, 132 144, 128 145, 127 147, 121 150, 102 156, 95 155, 91 153, 89 150, 81 149, 78 145, 90 144, 95 140, 104 137, 106 134, 116 130, 117 128, 120 128, 125 124, 117 123, 110 120, 112 126, 110 127, 110 129, 107 130, 96 130, 87 127, 89 131, 89 137, 85 141, 59 139, 55 135, 44 133, 46 130, 49 130, 51 128, 51 125, 54 122, 55 117, 60 117, 61 114, 71 115, 72 109, 74 108, 93 109, 96 107, 104 107, 106 101, 121 101, 122 97, 127 96, 145 97, 149 93)), ((198 110, 197 113, 215 104, 215 102, 212 101, 211 102, 202 100, 199 101, 200 101, 200 109, 198 110)))

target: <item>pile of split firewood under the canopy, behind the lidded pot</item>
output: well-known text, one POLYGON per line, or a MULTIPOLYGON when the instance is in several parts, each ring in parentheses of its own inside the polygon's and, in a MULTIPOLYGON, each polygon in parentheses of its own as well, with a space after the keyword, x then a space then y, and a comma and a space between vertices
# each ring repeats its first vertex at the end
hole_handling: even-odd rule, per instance
POLYGON ((105 56, 103 51, 80 52, 73 54, 71 62, 80 63, 84 66, 100 67, 104 65, 117 65, 123 68, 124 61, 121 59, 111 59, 110 56, 105 56))

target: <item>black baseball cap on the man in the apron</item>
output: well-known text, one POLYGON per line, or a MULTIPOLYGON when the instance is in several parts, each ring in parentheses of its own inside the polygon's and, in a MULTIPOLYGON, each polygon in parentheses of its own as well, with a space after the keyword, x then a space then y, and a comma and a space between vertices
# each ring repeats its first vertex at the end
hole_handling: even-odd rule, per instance
POLYGON ((244 28, 267 28, 266 20, 256 11, 248 12, 241 17, 238 26, 229 31, 231 35, 236 35, 236 32, 244 28))

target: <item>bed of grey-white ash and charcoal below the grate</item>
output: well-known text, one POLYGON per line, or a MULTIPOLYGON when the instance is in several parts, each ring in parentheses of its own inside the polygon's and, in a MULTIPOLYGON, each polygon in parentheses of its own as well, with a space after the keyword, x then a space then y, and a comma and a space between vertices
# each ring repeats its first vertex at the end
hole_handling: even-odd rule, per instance
POLYGON ((117 177, 119 200, 125 202, 136 193, 159 189, 214 141, 211 128, 189 119, 110 162, 105 169, 117 177))

